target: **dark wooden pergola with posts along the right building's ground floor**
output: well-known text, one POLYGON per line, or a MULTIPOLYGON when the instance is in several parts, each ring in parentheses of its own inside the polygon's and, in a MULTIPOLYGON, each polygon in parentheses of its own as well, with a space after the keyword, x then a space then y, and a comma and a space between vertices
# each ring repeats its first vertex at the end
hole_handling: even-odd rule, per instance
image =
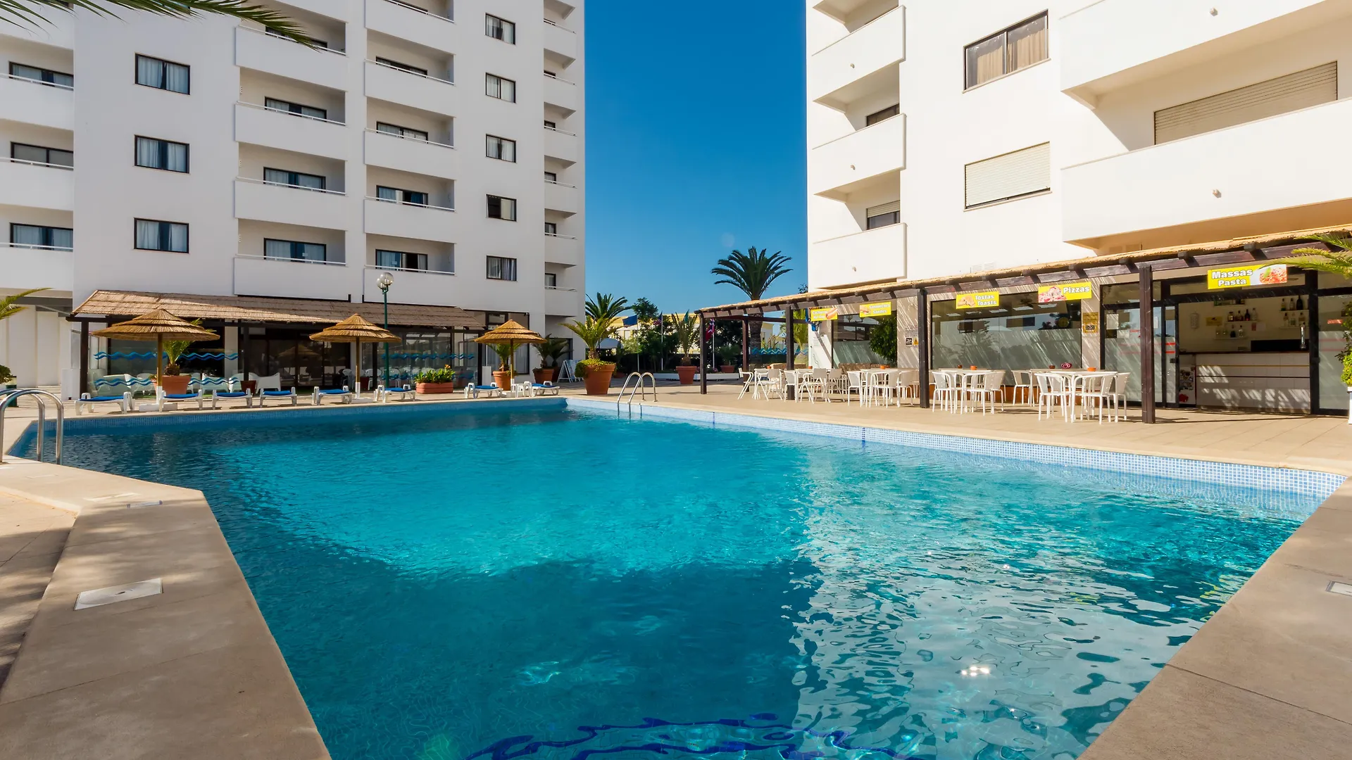
MULTIPOLYGON (((711 306, 698 311, 702 319, 737 319, 745 320, 767 314, 784 312, 786 349, 787 357, 794 356, 794 311, 804 311, 829 306, 849 306, 872 302, 894 302, 899 299, 915 299, 915 320, 919 326, 917 331, 919 349, 921 377, 929 376, 930 361, 930 329, 929 329, 929 298, 933 295, 960 293, 967 291, 990 291, 1018 287, 1037 287, 1049 283, 1063 283, 1072 280, 1102 280, 1107 277, 1136 276, 1140 284, 1141 299, 1141 388, 1155 387, 1155 354, 1159 346, 1155 341, 1155 275, 1175 269, 1195 269, 1209 266, 1240 265, 1249 261, 1271 261, 1288 258, 1298 247, 1326 247, 1324 243, 1310 242, 1314 234, 1347 234, 1352 229, 1349 224, 1337 227, 1321 227, 1314 230, 1295 230, 1272 235, 1252 238, 1234 238, 1209 243, 1194 243, 1187 246, 1160 247, 1109 256, 1088 256, 1068 261, 1055 261, 1048 264, 1033 264, 1006 269, 992 269, 967 275, 949 275, 944 277, 929 277, 917 280, 892 280, 884 283, 863 284, 850 288, 827 291, 814 291, 794 293, 760 300, 749 300, 723 306, 711 306), (1145 307, 1144 304, 1151 304, 1145 307)), ((1128 280, 1130 281, 1130 280, 1128 280)), ((761 318, 764 319, 764 318, 761 318)), ((775 319, 775 322, 779 322, 775 319)), ((745 338, 744 338, 745 350, 745 338)), ((700 364, 706 350, 704 331, 699 333, 700 364)), ((792 358, 788 358, 792 361, 792 358)), ((699 392, 708 392, 706 372, 700 372, 699 392)), ((919 404, 929 407, 929 384, 921 383, 919 404)), ((1155 422, 1155 394, 1141 394, 1141 419, 1155 422)))

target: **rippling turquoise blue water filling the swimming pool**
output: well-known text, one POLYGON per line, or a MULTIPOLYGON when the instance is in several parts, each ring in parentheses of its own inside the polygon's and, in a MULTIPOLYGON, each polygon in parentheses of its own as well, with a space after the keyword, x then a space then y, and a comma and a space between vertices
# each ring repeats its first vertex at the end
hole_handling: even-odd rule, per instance
POLYGON ((66 440, 70 464, 207 494, 339 760, 1068 760, 1320 500, 362 411, 66 440))

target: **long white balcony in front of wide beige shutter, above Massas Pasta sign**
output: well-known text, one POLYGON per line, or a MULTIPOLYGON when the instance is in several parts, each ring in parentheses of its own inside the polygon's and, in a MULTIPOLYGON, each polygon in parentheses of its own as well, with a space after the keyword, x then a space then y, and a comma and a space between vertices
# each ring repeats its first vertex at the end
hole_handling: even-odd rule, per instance
MULTIPOLYGON (((1352 199, 1349 119, 1352 99, 1336 100, 1063 169, 1064 239, 1099 247, 1106 235, 1229 219, 1179 242, 1222 239, 1271 231, 1249 233, 1236 216, 1352 199)), ((1338 218, 1274 229, 1347 220, 1345 208, 1328 214, 1338 218)))

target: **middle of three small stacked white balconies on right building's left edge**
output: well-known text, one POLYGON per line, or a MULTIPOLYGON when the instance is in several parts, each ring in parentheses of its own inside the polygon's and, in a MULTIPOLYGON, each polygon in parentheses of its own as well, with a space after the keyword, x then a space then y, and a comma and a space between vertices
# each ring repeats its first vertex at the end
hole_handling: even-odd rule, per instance
POLYGON ((899 114, 814 147, 807 157, 807 187, 845 200, 861 183, 904 168, 906 114, 899 114))

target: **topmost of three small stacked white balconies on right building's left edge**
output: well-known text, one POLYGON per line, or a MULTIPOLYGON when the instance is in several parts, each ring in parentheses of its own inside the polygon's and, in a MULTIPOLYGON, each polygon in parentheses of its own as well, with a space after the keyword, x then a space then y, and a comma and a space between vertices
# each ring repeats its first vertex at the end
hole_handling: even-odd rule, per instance
POLYGON ((906 8, 898 7, 818 50, 807 61, 807 96, 840 107, 869 74, 906 60, 906 8))

